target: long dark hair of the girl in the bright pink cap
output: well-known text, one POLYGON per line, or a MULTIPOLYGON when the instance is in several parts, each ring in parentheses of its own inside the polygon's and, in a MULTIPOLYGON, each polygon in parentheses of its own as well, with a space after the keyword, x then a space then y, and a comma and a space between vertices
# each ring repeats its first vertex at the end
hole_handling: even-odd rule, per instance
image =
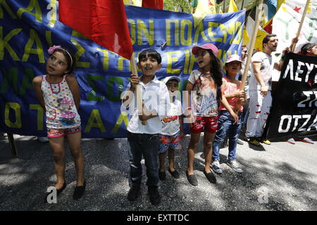
POLYGON ((209 55, 211 56, 211 69, 210 69, 210 75, 213 77, 213 80, 216 83, 216 89, 217 89, 217 100, 219 101, 221 98, 221 85, 223 85, 223 72, 221 70, 221 62, 218 57, 216 57, 215 53, 211 51, 210 49, 206 49, 206 51, 209 52, 209 55))

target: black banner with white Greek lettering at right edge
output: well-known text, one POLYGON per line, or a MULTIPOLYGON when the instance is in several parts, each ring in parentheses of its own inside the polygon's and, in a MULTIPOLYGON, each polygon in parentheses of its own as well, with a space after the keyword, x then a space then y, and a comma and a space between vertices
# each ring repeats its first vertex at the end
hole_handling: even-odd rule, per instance
POLYGON ((317 136, 316 56, 287 54, 265 134, 270 140, 317 136))

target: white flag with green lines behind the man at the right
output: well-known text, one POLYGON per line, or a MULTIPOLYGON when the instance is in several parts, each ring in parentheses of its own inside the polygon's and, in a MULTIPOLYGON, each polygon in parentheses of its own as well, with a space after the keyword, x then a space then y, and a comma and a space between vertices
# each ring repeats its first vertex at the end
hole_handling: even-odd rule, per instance
MULTIPOLYGON (((279 40, 276 53, 282 53, 285 47, 290 46, 292 39, 296 37, 301 20, 302 14, 294 11, 294 8, 287 4, 280 6, 273 18, 272 33, 277 34, 279 40)), ((317 20, 306 17, 294 53, 301 51, 302 46, 308 42, 317 43, 317 20)))

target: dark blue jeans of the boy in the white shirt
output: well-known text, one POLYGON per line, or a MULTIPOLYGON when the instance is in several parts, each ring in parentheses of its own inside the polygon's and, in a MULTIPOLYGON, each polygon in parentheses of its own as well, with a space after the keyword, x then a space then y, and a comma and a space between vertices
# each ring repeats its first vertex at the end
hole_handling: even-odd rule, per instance
POLYGON ((147 167, 147 186, 159 184, 159 134, 135 134, 128 131, 130 144, 130 179, 139 182, 142 179, 142 155, 147 167))

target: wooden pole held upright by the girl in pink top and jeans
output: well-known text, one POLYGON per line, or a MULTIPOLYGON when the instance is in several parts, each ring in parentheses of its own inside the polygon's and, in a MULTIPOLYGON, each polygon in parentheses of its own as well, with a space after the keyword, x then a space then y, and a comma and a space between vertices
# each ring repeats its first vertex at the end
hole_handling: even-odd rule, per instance
MULTIPOLYGON (((254 30, 252 32, 252 37, 251 37, 251 41, 250 41, 250 45, 249 45, 249 49, 248 49, 248 55, 247 55, 247 63, 245 64, 244 67, 244 71, 243 71, 243 75, 242 75, 242 79, 241 79, 241 84, 240 84, 240 91, 244 90, 244 85, 245 82, 247 80, 247 73, 249 70, 249 65, 250 65, 250 61, 252 58, 252 52, 254 49, 254 44, 256 41, 256 34, 258 33, 259 30, 259 25, 260 25, 260 18, 262 16, 262 12, 263 12, 263 0, 261 0, 260 4, 259 4, 259 11, 256 14, 256 21, 254 24, 254 30)), ((235 113, 239 112, 239 108, 240 108, 240 104, 238 103, 236 108, 235 108, 235 113)))

